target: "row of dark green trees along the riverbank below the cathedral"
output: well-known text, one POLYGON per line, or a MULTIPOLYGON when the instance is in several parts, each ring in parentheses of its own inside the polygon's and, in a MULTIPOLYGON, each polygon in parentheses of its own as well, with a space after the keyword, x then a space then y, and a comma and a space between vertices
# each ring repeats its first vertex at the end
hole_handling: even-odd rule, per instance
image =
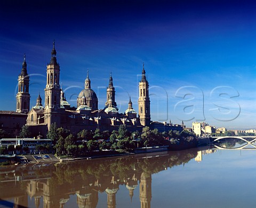
MULTIPOLYGON (((29 134, 28 128, 22 127, 21 136, 28 137, 29 134)), ((37 152, 75 157, 133 153, 135 149, 153 146, 168 146, 169 150, 187 149, 196 147, 198 139, 195 134, 186 130, 159 132, 145 127, 142 132, 129 132, 123 125, 118 131, 84 129, 78 134, 72 134, 67 129, 57 128, 55 123, 51 125, 47 138, 52 140, 52 145, 37 145, 37 152)), ((0 148, 0 154, 8 153, 28 153, 28 147, 9 145, 7 148, 0 148)))

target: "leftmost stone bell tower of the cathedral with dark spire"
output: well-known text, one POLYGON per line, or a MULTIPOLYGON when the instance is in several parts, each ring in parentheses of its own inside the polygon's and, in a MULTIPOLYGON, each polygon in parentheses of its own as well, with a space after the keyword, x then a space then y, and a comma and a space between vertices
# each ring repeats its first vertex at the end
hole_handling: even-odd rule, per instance
POLYGON ((18 77, 18 93, 16 95, 16 112, 28 113, 30 108, 29 75, 27 72, 26 55, 22 63, 22 70, 18 77))

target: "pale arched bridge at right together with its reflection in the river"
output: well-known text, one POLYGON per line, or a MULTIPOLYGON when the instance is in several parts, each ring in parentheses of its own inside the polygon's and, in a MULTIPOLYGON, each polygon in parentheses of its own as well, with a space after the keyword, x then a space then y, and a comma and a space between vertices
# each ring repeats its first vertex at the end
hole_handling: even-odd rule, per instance
POLYGON ((250 149, 253 149, 255 150, 256 149, 256 145, 253 145, 253 143, 256 142, 256 136, 220 136, 220 137, 212 137, 214 140, 212 141, 212 143, 214 142, 217 142, 218 140, 221 140, 221 139, 241 139, 243 140, 244 142, 246 142, 247 144, 241 146, 241 147, 235 147, 235 148, 228 148, 228 147, 220 147, 218 145, 214 145, 214 147, 218 148, 218 149, 247 149, 247 150, 250 150, 250 149), (252 138, 251 141, 248 141, 246 140, 245 138, 252 138), (247 146, 253 146, 253 148, 246 148, 247 146))

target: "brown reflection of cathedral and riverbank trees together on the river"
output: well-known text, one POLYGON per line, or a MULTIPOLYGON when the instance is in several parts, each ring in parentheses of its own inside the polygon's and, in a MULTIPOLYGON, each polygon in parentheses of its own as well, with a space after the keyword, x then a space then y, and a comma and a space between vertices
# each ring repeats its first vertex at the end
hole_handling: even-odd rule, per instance
POLYGON ((5 171, 0 169, 0 188, 5 190, 0 193, 0 198, 4 201, 13 199, 13 207, 17 208, 67 207, 70 203, 74 207, 90 208, 102 203, 102 194, 106 194, 104 206, 114 208, 120 204, 116 197, 121 194, 128 207, 138 203, 139 199, 140 207, 150 208, 151 175, 187 163, 196 157, 197 151, 151 154, 158 155, 139 154, 55 165, 28 164, 5 171), (120 190, 121 186, 126 191, 120 190), (135 193, 139 195, 134 199, 135 193))

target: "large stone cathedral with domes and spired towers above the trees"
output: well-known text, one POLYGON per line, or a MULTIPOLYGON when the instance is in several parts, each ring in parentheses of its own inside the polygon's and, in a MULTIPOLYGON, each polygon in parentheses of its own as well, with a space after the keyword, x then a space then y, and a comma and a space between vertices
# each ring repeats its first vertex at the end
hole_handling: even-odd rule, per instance
POLYGON ((84 89, 79 92, 77 106, 70 107, 66 100, 65 92, 60 86, 60 65, 57 62, 56 50, 53 43, 51 61, 46 68, 45 105, 42 105, 42 98, 39 94, 36 105, 29 108, 29 74, 24 56, 22 70, 18 77, 17 112, 27 113, 27 126, 33 134, 46 136, 52 123, 58 127, 69 129, 71 132, 78 132, 83 129, 95 130, 118 130, 121 124, 129 131, 142 130, 150 125, 150 99, 149 84, 146 72, 142 69, 142 77, 139 82, 139 112, 132 107, 132 101, 124 113, 118 112, 115 102, 115 87, 110 73, 107 87, 107 99, 103 109, 98 109, 98 97, 91 88, 89 71, 84 82, 84 89))

